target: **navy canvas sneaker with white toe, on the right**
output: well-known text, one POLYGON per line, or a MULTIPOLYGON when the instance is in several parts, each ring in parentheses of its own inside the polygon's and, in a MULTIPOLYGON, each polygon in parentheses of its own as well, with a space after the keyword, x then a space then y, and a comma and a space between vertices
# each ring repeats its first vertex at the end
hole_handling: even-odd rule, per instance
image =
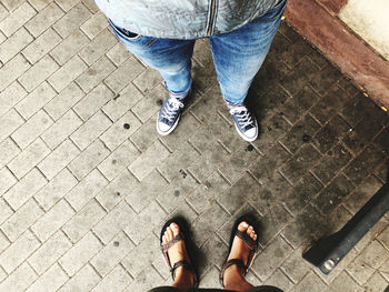
POLYGON ((230 113, 235 121, 235 128, 241 138, 248 142, 252 142, 258 138, 258 123, 245 105, 231 107, 230 113))

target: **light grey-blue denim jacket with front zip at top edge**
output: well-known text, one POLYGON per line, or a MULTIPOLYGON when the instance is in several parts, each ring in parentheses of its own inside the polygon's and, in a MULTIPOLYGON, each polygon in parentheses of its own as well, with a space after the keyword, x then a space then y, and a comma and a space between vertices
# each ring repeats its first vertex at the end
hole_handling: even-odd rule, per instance
POLYGON ((94 0, 114 24, 133 33, 199 39, 238 29, 280 0, 94 0))

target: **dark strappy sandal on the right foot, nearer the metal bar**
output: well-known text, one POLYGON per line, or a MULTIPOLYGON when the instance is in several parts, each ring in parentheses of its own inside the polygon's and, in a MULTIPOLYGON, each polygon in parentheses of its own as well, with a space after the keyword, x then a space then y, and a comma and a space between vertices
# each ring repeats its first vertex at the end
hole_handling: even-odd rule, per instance
POLYGON ((247 272, 249 271, 251 264, 253 263, 253 260, 257 255, 257 251, 258 251, 258 228, 257 225, 253 223, 255 221, 252 220, 251 217, 249 215, 245 215, 245 217, 241 217, 239 218, 236 223, 233 224, 233 228, 232 228, 232 231, 231 231, 231 238, 230 238, 230 246, 229 246, 229 252, 228 252, 228 255, 227 255, 227 259, 231 252, 231 249, 232 249, 232 243, 233 243, 233 238, 235 236, 238 236, 245 243, 246 245, 250 249, 250 252, 249 252, 249 256, 248 256, 248 260, 247 260, 247 263, 243 263, 242 260, 240 259, 231 259, 231 260, 227 260, 226 259, 226 262, 225 264, 222 265, 221 270, 220 270, 220 273, 219 273, 219 280, 220 280, 220 284, 222 288, 225 288, 225 272, 228 268, 230 268, 231 265, 238 265, 238 268, 240 269, 241 273, 243 276, 246 276, 247 272), (256 234, 257 234, 257 240, 253 241, 246 232, 241 232, 238 230, 238 225, 241 223, 241 222, 247 222, 249 225, 251 225, 253 228, 253 230, 256 231, 256 234))

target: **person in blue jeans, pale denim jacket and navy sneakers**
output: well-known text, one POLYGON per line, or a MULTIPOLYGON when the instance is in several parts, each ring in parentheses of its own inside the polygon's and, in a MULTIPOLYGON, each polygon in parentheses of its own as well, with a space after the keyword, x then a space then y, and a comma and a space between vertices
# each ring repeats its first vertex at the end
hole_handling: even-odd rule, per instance
POLYGON ((245 99, 279 28, 287 0, 94 0, 126 48, 162 75, 169 95, 157 119, 171 133, 186 107, 196 39, 208 38, 222 97, 246 141, 258 123, 245 99))

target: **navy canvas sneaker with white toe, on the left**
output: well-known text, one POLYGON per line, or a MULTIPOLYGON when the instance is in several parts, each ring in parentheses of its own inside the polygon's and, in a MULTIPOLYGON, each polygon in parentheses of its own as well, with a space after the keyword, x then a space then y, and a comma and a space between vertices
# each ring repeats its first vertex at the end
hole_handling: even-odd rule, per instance
POLYGON ((183 107, 183 100, 170 95, 166 99, 157 119, 157 132, 159 134, 167 135, 176 129, 183 107))

